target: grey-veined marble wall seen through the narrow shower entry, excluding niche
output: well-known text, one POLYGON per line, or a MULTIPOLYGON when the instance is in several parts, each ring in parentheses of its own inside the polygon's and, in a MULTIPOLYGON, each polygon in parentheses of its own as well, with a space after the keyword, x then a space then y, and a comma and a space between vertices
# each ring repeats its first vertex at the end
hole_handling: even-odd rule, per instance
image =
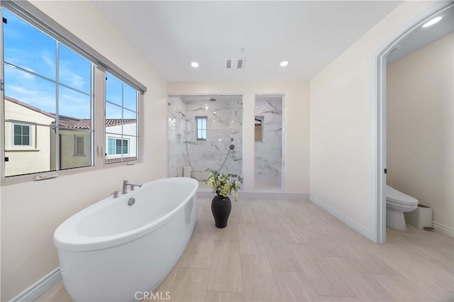
POLYGON ((255 116, 263 116, 263 141, 255 142, 255 183, 280 186, 282 178, 282 97, 257 96, 255 116))

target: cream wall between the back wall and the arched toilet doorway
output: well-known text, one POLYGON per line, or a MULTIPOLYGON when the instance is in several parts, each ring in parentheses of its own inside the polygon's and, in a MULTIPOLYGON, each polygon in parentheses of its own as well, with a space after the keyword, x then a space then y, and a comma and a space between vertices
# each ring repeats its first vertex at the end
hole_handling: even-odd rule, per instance
POLYGON ((405 1, 311 79, 311 200, 372 239, 375 97, 372 58, 438 6, 405 1))

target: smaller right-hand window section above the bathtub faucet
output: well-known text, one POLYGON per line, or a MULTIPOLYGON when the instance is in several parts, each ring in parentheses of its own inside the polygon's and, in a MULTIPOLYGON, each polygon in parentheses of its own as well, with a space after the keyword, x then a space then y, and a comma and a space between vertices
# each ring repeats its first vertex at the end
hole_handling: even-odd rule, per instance
POLYGON ((138 94, 106 72, 106 164, 138 159, 138 94))

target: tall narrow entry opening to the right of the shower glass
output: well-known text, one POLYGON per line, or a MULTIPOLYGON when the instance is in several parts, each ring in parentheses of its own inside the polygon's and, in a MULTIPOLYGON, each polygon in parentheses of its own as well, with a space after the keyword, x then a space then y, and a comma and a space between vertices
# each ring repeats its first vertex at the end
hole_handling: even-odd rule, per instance
POLYGON ((255 96, 255 191, 284 191, 282 108, 282 95, 255 96))

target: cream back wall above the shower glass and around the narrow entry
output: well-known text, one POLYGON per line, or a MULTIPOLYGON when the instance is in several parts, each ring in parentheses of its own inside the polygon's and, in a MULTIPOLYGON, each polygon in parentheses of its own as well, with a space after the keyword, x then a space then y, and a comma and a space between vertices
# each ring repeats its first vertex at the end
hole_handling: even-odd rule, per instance
POLYGON ((254 191, 255 94, 284 94, 287 133, 287 193, 309 193, 309 83, 308 82, 199 82, 167 83, 172 95, 243 95, 243 189, 254 191))

